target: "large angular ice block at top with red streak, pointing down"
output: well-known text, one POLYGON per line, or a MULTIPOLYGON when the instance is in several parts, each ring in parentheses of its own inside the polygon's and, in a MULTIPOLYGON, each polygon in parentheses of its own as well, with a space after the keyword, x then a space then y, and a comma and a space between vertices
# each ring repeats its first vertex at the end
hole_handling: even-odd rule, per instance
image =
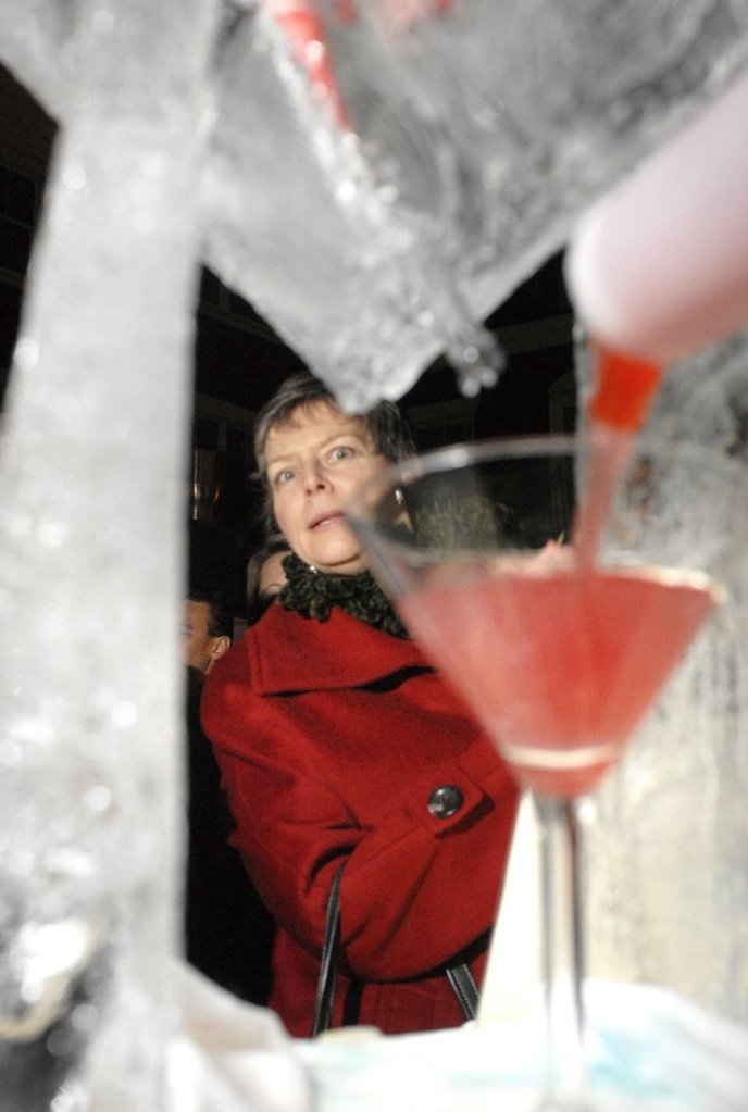
POLYGON ((322 64, 310 8, 227 33, 206 257, 350 408, 488 380, 476 321, 747 56, 740 2, 322 0, 322 64))

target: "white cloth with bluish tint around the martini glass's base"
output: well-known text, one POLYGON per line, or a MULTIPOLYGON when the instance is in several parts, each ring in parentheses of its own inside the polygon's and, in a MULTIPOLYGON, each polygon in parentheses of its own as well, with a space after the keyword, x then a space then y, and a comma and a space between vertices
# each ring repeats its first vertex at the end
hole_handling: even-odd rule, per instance
MULTIPOLYGON (((528 1017, 385 1036, 292 1040, 277 1016, 178 970, 176 1112, 532 1112, 542 1025, 528 1017)), ((606 1112, 745 1112, 748 1030, 657 986, 587 985, 594 1093, 606 1112)))

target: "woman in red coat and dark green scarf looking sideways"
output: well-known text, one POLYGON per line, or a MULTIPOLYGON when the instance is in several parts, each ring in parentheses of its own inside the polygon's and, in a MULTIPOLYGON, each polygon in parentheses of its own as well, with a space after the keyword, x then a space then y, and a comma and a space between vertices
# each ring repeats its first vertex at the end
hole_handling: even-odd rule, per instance
POLYGON ((455 1026, 445 967, 469 962, 480 983, 517 791, 343 517, 350 493, 412 444, 392 404, 349 416, 302 375, 259 415, 255 447, 288 582, 211 671, 202 714, 233 844, 278 924, 270 1006, 291 1034, 310 1033, 345 862, 333 1022, 455 1026))

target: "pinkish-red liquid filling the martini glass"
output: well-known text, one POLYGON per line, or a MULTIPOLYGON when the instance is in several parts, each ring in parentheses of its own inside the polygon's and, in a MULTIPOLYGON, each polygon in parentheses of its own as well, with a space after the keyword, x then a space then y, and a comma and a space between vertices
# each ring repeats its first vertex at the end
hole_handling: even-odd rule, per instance
POLYGON ((518 780, 567 798, 618 758, 717 592, 698 573, 541 565, 442 566, 399 607, 518 780))

